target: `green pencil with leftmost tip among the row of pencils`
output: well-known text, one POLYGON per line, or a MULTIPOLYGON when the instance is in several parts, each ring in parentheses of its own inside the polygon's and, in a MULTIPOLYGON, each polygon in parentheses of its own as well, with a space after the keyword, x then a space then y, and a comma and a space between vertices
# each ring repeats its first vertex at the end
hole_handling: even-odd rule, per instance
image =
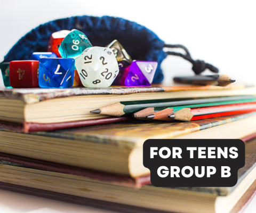
POLYGON ((220 101, 231 101, 231 100, 243 100, 243 99, 253 99, 253 95, 238 95, 238 96, 222 96, 222 97, 207 97, 198 99, 158 99, 158 100, 143 100, 143 101, 121 101, 114 104, 110 104, 103 108, 93 110, 91 113, 106 114, 109 116, 120 117, 124 114, 131 114, 138 112, 140 110, 152 107, 164 107, 169 106, 182 106, 191 105, 199 103, 213 103, 220 101))

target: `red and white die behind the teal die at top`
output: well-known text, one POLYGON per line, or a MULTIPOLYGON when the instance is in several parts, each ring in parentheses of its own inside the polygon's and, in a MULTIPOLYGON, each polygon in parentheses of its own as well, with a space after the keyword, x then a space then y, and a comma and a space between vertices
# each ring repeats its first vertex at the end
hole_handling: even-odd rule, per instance
POLYGON ((69 34, 70 30, 60 30, 57 32, 53 32, 49 44, 48 44, 48 52, 55 53, 58 58, 61 58, 59 53, 59 47, 62 40, 69 34))

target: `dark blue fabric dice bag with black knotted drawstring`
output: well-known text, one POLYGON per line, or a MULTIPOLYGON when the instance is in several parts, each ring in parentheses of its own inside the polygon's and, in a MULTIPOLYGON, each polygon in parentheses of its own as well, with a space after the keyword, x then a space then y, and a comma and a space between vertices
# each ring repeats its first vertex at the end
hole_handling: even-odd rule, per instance
POLYGON ((125 47, 131 58, 138 60, 136 65, 140 61, 156 61, 158 65, 154 71, 153 79, 155 84, 161 83, 163 80, 161 63, 167 55, 181 56, 183 59, 190 61, 196 74, 200 74, 205 69, 218 72, 218 69, 211 64, 201 60, 193 60, 185 46, 165 44, 153 31, 138 23, 122 18, 90 17, 86 15, 41 24, 23 36, 5 55, 3 62, 28 60, 33 52, 47 52, 49 38, 53 32, 73 29, 84 32, 94 46, 104 47, 117 39, 125 47), (182 48, 186 54, 172 51, 165 52, 164 47, 167 49, 182 48))

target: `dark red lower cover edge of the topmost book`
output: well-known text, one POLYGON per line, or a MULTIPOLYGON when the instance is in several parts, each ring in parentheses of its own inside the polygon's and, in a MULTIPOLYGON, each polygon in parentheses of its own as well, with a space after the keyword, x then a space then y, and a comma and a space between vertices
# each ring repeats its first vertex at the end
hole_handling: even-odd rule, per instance
POLYGON ((124 122, 134 120, 131 117, 110 117, 91 120, 77 120, 68 122, 56 122, 49 124, 39 124, 34 122, 23 122, 22 124, 0 121, 0 128, 12 130, 18 133, 44 132, 58 129, 67 129, 84 126, 95 126, 102 124, 113 124, 116 122, 124 122))

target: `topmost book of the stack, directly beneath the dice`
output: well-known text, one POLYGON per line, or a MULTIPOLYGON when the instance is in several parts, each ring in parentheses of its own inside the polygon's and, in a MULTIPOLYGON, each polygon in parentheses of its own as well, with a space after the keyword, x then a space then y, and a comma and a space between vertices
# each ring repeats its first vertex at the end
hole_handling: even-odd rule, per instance
MULTIPOLYGON (((254 95, 255 85, 0 89, 0 120, 33 126, 107 118, 90 111, 118 101, 254 95)), ((95 122, 94 122, 95 121, 95 122)), ((110 121, 109 121, 110 122, 110 121)), ((86 124, 85 124, 86 125, 86 124)), ((67 126, 67 125, 66 125, 67 126)), ((44 130, 46 130, 46 126, 44 130)), ((64 127, 62 125, 62 127, 64 127)), ((62 128, 60 127, 60 128, 62 128)), ((33 129, 33 127, 31 127, 33 129)), ((26 129, 26 128, 23 128, 26 129)), ((56 129, 56 128, 55 128, 56 129)), ((29 130, 27 130, 28 132, 29 130)))

